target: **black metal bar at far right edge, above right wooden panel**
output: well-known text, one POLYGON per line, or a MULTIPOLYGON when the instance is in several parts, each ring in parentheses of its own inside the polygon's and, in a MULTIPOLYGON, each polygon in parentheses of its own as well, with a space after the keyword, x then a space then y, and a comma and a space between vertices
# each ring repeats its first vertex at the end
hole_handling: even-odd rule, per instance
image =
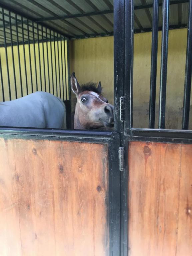
POLYGON ((191 73, 192 73, 192 0, 189 0, 188 30, 187 30, 187 52, 185 64, 185 86, 183 99, 182 129, 189 129, 189 112, 191 98, 191 73))

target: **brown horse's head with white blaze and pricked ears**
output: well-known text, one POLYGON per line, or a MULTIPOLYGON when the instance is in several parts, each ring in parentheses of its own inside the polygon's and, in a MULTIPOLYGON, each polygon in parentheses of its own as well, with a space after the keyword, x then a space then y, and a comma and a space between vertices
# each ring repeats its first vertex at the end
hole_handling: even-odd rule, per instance
POLYGON ((77 97, 74 129, 107 130, 112 128, 114 107, 101 94, 101 82, 97 87, 95 83, 80 86, 74 72, 70 82, 71 89, 77 97))

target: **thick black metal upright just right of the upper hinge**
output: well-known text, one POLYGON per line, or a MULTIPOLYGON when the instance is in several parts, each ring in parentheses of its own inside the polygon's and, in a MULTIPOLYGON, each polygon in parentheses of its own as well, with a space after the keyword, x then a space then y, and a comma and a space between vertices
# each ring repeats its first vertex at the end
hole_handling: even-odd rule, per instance
POLYGON ((125 0, 125 133, 131 134, 133 127, 133 39, 134 3, 125 0))

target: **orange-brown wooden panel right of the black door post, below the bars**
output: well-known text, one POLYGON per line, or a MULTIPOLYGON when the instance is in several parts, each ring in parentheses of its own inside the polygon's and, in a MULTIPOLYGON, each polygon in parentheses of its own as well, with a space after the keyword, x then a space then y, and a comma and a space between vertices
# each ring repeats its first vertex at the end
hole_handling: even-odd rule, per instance
POLYGON ((128 161, 129 255, 191 256, 192 145, 130 142, 128 161))

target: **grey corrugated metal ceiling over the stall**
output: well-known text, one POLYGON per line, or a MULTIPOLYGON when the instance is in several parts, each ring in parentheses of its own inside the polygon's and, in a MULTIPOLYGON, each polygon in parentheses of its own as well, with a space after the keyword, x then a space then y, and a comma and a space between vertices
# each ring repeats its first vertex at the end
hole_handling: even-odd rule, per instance
MULTIPOLYGON (((71 39, 113 34, 112 0, 0 0, 0 6, 71 39)), ((5 14, 5 23, 8 26, 9 17, 6 10, 5 14)), ((12 13, 11 15, 14 24, 15 16, 12 13)), ((188 1, 170 1, 170 28, 186 27, 187 19, 188 1)), ((162 7, 159 13, 159 27, 161 22, 162 7)), ((3 21, 0 18, 0 33, 2 26, 3 21)), ((152 0, 135 0, 135 32, 150 31, 151 27, 152 0)))

